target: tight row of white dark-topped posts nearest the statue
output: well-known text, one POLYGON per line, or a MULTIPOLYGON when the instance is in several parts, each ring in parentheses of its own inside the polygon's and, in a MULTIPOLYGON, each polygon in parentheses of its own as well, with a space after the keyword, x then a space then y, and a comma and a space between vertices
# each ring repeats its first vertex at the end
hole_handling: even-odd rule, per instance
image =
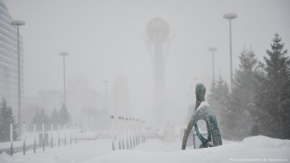
POLYGON ((145 127, 144 127, 145 121, 140 121, 140 119, 131 119, 131 118, 124 119, 124 117, 119 117, 118 137, 115 137, 113 115, 111 116, 111 120, 112 120, 113 150, 116 150, 115 141, 117 140, 117 138, 119 149, 133 149, 133 147, 135 148, 135 146, 138 146, 138 144, 140 144, 140 140, 141 143, 146 142, 145 127), (127 148, 125 148, 125 144, 127 148))

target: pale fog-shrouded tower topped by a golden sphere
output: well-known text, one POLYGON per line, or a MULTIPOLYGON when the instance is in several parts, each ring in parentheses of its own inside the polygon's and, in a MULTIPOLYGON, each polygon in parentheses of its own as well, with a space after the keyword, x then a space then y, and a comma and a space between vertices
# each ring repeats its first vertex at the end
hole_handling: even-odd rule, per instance
POLYGON ((168 23, 157 17, 149 21, 146 26, 147 39, 146 45, 151 58, 154 79, 154 107, 156 111, 156 123, 162 125, 165 123, 164 117, 164 72, 166 65, 167 52, 169 48, 168 23))

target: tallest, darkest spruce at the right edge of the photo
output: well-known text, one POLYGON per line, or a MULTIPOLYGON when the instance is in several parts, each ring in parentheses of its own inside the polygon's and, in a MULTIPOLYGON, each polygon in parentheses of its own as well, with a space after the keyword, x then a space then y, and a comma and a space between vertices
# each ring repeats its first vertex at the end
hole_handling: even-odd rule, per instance
POLYGON ((257 95, 257 107, 263 112, 258 116, 258 131, 262 135, 290 139, 290 59, 283 50, 282 38, 276 33, 271 50, 266 50, 269 58, 260 63, 266 76, 261 78, 263 86, 257 95))

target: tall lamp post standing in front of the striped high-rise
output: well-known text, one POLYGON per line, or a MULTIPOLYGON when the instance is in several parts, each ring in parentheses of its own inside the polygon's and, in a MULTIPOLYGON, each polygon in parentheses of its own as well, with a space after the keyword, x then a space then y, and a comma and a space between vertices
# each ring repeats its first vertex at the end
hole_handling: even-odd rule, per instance
POLYGON ((17 26, 17 55, 18 55, 18 131, 21 133, 21 84, 20 84, 20 50, 19 50, 19 26, 25 25, 22 20, 13 20, 11 25, 17 26))

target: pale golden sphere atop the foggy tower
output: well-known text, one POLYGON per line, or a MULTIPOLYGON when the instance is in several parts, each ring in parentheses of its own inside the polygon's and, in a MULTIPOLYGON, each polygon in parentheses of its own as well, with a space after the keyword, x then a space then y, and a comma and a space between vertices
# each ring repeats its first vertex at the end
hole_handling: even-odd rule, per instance
POLYGON ((152 19, 146 26, 146 35, 150 40, 164 41, 169 35, 169 25, 159 17, 152 19))

